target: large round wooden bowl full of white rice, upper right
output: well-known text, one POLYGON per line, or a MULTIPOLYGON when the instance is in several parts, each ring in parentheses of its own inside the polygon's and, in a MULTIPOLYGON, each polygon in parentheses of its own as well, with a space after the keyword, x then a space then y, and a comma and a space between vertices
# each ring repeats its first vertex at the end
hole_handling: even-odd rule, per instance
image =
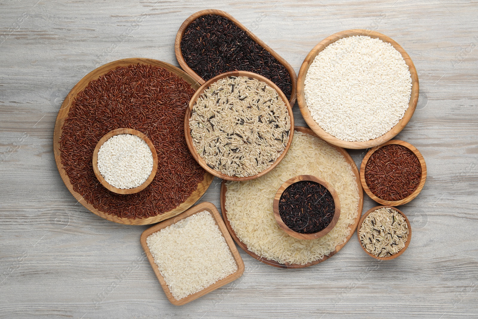
POLYGON ((297 103, 326 142, 350 149, 391 140, 418 101, 412 59, 388 36, 368 30, 334 33, 310 51, 297 77, 297 103))

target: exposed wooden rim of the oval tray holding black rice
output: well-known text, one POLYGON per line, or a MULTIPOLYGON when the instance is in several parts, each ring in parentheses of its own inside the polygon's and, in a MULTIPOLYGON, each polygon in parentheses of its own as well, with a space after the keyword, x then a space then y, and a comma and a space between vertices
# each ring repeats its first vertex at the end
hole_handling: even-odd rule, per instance
POLYGON ((291 91, 291 98, 289 99, 289 103, 291 104, 291 107, 293 107, 296 96, 297 96, 296 95, 297 75, 295 74, 293 67, 289 63, 287 63, 287 61, 285 61, 282 56, 277 54, 274 50, 271 49, 271 47, 269 47, 261 39, 259 39, 254 33, 250 32, 242 23, 237 21, 233 16, 231 16, 229 13, 225 11, 215 10, 215 9, 206 9, 206 10, 197 11, 196 13, 193 13, 189 18, 187 18, 185 22, 183 22, 183 24, 181 24, 181 27, 179 28, 179 31, 176 34, 176 41, 174 42, 174 52, 176 53, 176 59, 178 60, 178 63, 183 68, 183 70, 185 70, 186 73, 188 73, 197 82, 199 82, 199 84, 203 84, 205 82, 205 80, 202 77, 200 77, 196 72, 193 71, 193 69, 191 69, 186 64, 186 61, 184 60, 183 54, 181 52, 181 39, 183 38, 185 30, 189 26, 189 24, 191 24, 191 22, 195 21, 200 16, 203 16, 206 14, 220 15, 221 17, 224 17, 232 21, 240 29, 242 29, 245 33, 247 33, 252 40, 254 40, 257 44, 261 45, 264 49, 266 49, 266 51, 268 51, 273 57, 277 59, 277 61, 279 61, 280 64, 282 64, 282 66, 284 66, 287 69, 292 80, 292 91, 291 91))

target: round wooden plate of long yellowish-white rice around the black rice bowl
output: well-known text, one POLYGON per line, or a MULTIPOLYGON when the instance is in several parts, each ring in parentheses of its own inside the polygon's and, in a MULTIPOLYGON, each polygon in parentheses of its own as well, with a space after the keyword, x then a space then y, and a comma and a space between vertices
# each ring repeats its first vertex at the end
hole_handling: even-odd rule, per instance
POLYGON ((308 128, 295 127, 295 131, 289 152, 269 174, 250 181, 223 180, 221 185, 222 216, 234 241, 257 260, 279 268, 304 268, 333 256, 352 237, 363 208, 359 170, 347 151, 326 143, 308 128), (334 229, 316 240, 289 236, 279 228, 272 211, 277 189, 302 174, 329 182, 342 208, 334 229))

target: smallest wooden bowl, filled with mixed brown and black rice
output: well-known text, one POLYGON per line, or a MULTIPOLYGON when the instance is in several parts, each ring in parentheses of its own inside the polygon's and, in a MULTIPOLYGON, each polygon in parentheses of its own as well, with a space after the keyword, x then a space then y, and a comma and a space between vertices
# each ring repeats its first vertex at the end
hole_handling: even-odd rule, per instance
POLYGON ((390 260, 400 256, 410 244, 412 227, 399 209, 376 206, 369 209, 359 221, 357 236, 369 256, 390 260))

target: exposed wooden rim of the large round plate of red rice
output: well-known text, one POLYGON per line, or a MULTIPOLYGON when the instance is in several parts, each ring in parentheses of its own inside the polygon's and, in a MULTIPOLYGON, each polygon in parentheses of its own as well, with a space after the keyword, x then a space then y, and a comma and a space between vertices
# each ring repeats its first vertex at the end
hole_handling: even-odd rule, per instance
POLYGON ((87 87, 90 81, 98 79, 98 77, 102 76, 103 74, 109 72, 112 69, 117 68, 118 66, 130 66, 131 64, 150 64, 152 66, 159 66, 167 69, 170 72, 173 72, 179 77, 182 77, 186 82, 191 84, 191 87, 194 89, 199 88, 199 84, 192 78, 190 77, 187 73, 185 73, 183 70, 178 69, 175 66, 172 66, 168 63, 158 61, 158 60, 153 60, 153 59, 146 59, 146 58, 129 58, 129 59, 121 59, 117 61, 113 61, 110 63, 107 63, 103 66, 100 66, 90 73, 88 73, 85 77, 83 77, 76 85, 71 89, 71 91, 68 93, 66 96, 65 100, 63 101, 63 104, 58 111, 58 116, 56 117, 55 121, 55 128, 54 128, 54 133, 53 133, 53 150, 54 150, 54 155, 55 155, 55 162, 56 162, 56 167, 58 168, 58 172, 60 173, 61 178, 63 179, 63 182, 65 183, 66 188, 70 191, 70 193, 78 200, 78 202, 85 206, 89 211, 92 213, 98 215, 101 218, 104 218, 106 220, 114 221, 120 224, 127 224, 127 225, 148 225, 148 224, 153 224, 157 223, 161 220, 168 219, 170 217, 173 217, 179 213, 182 213, 196 201, 203 196, 203 194, 206 192, 207 187, 211 184, 214 176, 212 176, 209 173, 205 173, 204 179, 201 183, 197 185, 196 190, 191 194, 189 198, 187 198, 183 203, 181 203, 179 206, 177 206, 174 209, 171 209, 167 212, 164 212, 161 215, 153 216, 153 217, 148 217, 148 218, 143 218, 143 219, 128 219, 128 218, 120 218, 115 215, 110 215, 107 214, 103 211, 100 211, 96 208, 93 207, 90 203, 88 203, 81 194, 77 193, 74 189, 73 186, 70 183, 70 179, 68 175, 65 172, 65 169, 63 168, 63 165, 61 163, 61 152, 60 152, 60 137, 62 134, 62 127, 65 122, 66 117, 68 116, 68 112, 70 110, 70 107, 72 106, 73 102, 75 101, 76 95, 81 92, 84 88, 87 87))

